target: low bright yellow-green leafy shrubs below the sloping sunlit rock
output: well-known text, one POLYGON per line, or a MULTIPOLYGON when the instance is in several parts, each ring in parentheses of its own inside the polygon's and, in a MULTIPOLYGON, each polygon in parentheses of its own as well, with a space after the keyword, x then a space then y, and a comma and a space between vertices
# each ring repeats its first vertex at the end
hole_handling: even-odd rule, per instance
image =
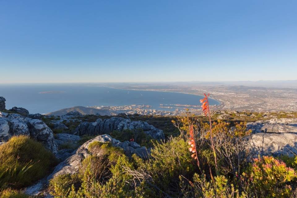
POLYGON ((134 191, 127 181, 131 176, 125 173, 124 167, 133 168, 125 155, 118 156, 116 163, 110 166, 111 177, 102 183, 96 179, 89 160, 85 159, 85 168, 71 176, 60 175, 50 180, 49 191, 58 198, 80 198, 80 197, 135 197, 134 191), (79 180, 78 180, 79 179, 79 180), (81 183, 80 187, 77 184, 81 183))

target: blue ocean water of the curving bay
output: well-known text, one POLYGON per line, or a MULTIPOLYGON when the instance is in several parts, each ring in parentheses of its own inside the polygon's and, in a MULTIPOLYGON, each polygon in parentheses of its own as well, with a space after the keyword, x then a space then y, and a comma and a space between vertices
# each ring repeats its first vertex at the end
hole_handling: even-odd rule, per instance
MULTIPOLYGON (((150 105, 150 109, 160 108, 160 104, 200 105, 202 96, 158 91, 114 89, 87 85, 65 84, 0 84, 0 96, 6 99, 6 109, 23 107, 30 113, 49 113, 73 106, 123 106, 150 105)), ((211 105, 219 102, 209 99, 211 105)))

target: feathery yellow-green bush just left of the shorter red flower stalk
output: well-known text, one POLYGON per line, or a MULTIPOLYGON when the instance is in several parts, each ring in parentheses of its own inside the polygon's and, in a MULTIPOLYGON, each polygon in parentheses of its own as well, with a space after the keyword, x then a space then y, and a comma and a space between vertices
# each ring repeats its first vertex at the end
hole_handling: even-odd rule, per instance
MULTIPOLYGON (((191 179, 197 170, 196 162, 191 158, 191 153, 188 150, 188 144, 181 137, 154 144, 151 150, 151 159, 148 161, 136 156, 134 159, 138 167, 137 170, 144 170, 145 173, 151 175, 153 185, 158 186, 167 194, 179 191, 180 175, 191 179)), ((151 188, 151 192, 148 191, 148 193, 158 193, 151 185, 147 185, 147 188, 151 188)))

